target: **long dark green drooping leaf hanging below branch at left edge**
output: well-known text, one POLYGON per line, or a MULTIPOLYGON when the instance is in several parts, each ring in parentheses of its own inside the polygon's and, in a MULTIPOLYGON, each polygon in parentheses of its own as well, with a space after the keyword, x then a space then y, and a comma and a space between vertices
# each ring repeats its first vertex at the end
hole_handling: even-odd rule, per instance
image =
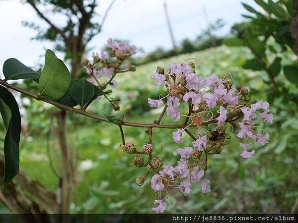
MULTIPOLYGON (((4 123, 8 123, 4 139, 5 166, 2 186, 5 186, 19 171, 21 116, 13 95, 3 86, 0 86, 0 98, 2 102, 9 108, 11 113, 11 118, 9 118, 7 114, 3 115, 1 112, 3 118, 9 118, 9 120, 4 120, 4 123)), ((7 112, 7 108, 1 107, 1 111, 2 110, 7 112)))

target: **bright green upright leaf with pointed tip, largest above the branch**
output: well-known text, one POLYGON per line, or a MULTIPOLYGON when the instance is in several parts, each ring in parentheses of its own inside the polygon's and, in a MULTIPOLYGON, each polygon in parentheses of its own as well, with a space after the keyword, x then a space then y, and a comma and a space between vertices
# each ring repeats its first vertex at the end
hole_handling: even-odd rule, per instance
POLYGON ((41 72, 38 88, 41 96, 59 99, 70 87, 71 74, 61 59, 53 51, 46 51, 46 63, 41 72))

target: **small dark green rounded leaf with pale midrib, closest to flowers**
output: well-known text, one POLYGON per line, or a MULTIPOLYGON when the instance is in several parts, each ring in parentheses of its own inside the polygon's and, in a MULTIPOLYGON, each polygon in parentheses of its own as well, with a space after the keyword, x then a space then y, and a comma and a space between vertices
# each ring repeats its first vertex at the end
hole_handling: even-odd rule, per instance
POLYGON ((93 97, 94 87, 86 80, 78 80, 71 88, 71 96, 83 108, 93 97))

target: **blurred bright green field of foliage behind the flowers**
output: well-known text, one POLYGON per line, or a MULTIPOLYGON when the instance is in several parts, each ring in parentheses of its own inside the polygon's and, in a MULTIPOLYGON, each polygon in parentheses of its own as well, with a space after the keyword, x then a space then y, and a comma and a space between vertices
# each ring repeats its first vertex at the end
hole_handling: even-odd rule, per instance
MULTIPOLYGON (((294 54, 284 51, 281 56, 283 62, 290 62, 294 54)), ((94 102, 89 111, 118 117, 125 114, 126 120, 152 122, 158 118, 158 110, 149 110, 147 98, 157 98, 165 93, 162 87, 155 87, 151 81, 156 66, 165 67, 170 61, 187 62, 189 58, 196 59, 199 75, 208 76, 215 72, 224 77, 229 72, 233 77, 233 86, 241 83, 250 90, 251 102, 267 100, 267 73, 243 69, 247 57, 253 57, 248 48, 221 46, 138 66, 136 72, 116 77, 119 86, 113 89, 112 95, 121 98, 121 111, 106 109, 109 106, 103 99, 94 102)), ((281 75, 280 78, 284 77, 281 75)), ((202 194, 200 185, 195 185, 192 194, 187 197, 181 196, 179 190, 173 191, 166 199, 168 213, 290 212, 298 196, 298 118, 297 115, 289 115, 288 110, 292 108, 285 106, 282 99, 276 99, 270 108, 275 115, 274 124, 261 124, 259 129, 270 133, 270 143, 264 147, 254 145, 256 154, 245 160, 239 156, 242 151, 239 139, 231 135, 223 152, 208 159, 206 177, 211 181, 211 193, 202 194)), ((58 178, 54 172, 59 174, 61 162, 55 136, 57 123, 49 118, 49 114, 56 109, 32 101, 27 111, 33 140, 26 141, 24 137, 21 140, 20 167, 33 179, 55 190, 58 178), (49 141, 46 140, 46 133, 49 133, 49 141), (52 171, 50 164, 55 171, 52 171)), ((70 118, 69 141, 79 169, 72 212, 151 213, 150 208, 158 194, 150 188, 150 178, 143 186, 135 183, 136 177, 144 175, 147 169, 133 167, 134 155, 120 151, 118 126, 75 113, 70 114, 70 118)), ((170 118, 165 117, 163 123, 169 122, 170 118)), ((126 141, 142 147, 148 140, 145 130, 124 126, 126 141)), ((183 134, 184 143, 175 144, 172 131, 154 129, 154 146, 159 148, 159 142, 163 145, 163 151, 156 156, 162 158, 164 164, 174 164, 178 157, 173 156, 173 151, 192 142, 188 135, 183 134)), ((234 133, 237 131, 234 129, 234 133)), ((2 136, 4 131, 0 132, 2 136)))

